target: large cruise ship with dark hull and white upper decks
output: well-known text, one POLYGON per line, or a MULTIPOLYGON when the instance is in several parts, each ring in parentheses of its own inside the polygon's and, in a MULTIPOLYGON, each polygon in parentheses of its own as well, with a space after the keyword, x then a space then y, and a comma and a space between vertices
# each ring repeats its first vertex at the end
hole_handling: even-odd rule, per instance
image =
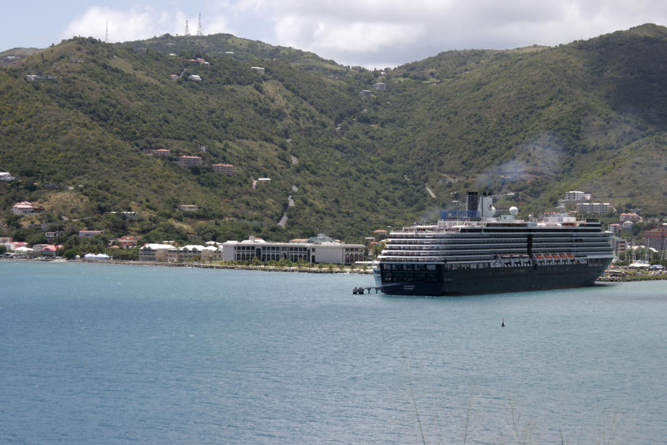
POLYGON ((614 254, 598 220, 568 213, 495 217, 493 198, 468 193, 465 211, 390 232, 378 257, 383 293, 454 296, 588 286, 614 254))

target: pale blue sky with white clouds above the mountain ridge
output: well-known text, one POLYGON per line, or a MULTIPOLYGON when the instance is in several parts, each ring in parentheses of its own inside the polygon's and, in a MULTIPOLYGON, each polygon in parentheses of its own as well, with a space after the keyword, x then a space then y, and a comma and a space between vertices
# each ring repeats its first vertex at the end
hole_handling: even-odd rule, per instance
POLYGON ((124 42, 197 32, 293 47, 343 65, 396 67, 453 49, 555 46, 645 23, 664 0, 108 0, 7 1, 0 51, 75 35, 124 42))

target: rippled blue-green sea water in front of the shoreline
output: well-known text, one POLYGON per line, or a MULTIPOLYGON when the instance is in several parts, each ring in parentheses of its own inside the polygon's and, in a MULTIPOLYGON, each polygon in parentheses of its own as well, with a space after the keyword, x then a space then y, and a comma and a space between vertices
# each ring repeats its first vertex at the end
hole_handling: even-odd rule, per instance
POLYGON ((667 444, 667 282, 357 285, 0 261, 0 443, 667 444))

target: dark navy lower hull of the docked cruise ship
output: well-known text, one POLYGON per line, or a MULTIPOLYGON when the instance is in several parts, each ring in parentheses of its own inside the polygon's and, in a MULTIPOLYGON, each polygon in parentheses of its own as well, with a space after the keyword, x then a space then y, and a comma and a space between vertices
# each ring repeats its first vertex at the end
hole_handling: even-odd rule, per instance
POLYGON ((456 296, 478 293, 534 291, 590 286, 604 273, 609 261, 558 266, 520 266, 443 270, 427 280, 418 275, 408 280, 382 281, 381 291, 390 295, 456 296), (435 275, 435 276, 434 276, 435 275))

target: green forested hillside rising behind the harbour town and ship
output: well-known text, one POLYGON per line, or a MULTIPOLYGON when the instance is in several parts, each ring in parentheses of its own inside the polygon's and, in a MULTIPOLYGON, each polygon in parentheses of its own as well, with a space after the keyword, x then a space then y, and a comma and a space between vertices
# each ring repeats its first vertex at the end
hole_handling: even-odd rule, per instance
POLYGON ((386 74, 232 35, 74 38, 24 54, 0 68, 0 171, 17 177, 0 184, 4 234, 57 223, 156 240, 359 241, 456 209, 468 189, 522 214, 573 189, 665 211, 661 26, 553 48, 448 51, 386 74), (172 156, 148 154, 158 148, 172 156), (203 165, 183 168, 179 155, 203 165), (11 216, 22 200, 46 211, 11 216), (119 211, 139 218, 110 213, 119 211))

